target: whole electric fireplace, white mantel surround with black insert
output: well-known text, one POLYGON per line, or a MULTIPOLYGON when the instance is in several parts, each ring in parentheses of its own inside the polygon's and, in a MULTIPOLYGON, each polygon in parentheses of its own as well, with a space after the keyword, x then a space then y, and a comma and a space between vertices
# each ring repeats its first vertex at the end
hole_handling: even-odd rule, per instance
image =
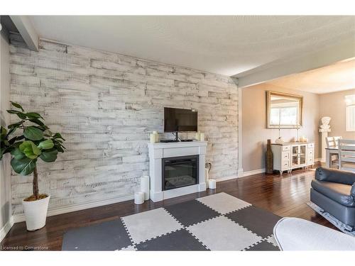
POLYGON ((206 190, 207 141, 148 143, 153 202, 206 190))

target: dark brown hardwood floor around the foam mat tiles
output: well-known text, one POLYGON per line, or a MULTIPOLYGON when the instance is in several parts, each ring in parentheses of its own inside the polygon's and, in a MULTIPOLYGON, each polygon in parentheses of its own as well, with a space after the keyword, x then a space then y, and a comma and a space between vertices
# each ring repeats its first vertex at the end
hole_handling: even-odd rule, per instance
POLYGON ((278 174, 256 174, 219 182, 217 189, 214 190, 179 196, 157 203, 146 201, 142 205, 135 205, 133 201, 124 201, 50 216, 47 218, 47 225, 34 232, 26 231, 25 222, 16 223, 0 246, 3 250, 7 249, 6 247, 16 248, 18 246, 27 246, 29 249, 43 247, 42 249, 45 250, 61 250, 62 235, 69 229, 89 226, 218 192, 226 192, 279 216, 300 217, 336 229, 306 204, 310 200, 310 182, 314 176, 315 172, 312 170, 297 170, 292 174, 284 174, 282 177, 278 174))

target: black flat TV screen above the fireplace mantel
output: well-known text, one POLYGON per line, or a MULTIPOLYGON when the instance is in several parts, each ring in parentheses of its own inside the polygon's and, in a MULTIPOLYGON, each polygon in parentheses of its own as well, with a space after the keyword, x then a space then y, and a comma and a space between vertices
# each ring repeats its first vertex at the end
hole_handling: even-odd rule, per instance
POLYGON ((197 111, 164 107, 164 132, 197 131, 197 111))

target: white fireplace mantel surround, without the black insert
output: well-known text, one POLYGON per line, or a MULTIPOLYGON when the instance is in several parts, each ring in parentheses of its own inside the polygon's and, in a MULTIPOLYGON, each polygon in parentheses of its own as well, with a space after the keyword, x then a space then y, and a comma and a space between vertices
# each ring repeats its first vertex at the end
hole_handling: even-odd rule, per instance
POLYGON ((151 176, 151 200, 154 202, 162 201, 163 199, 170 199, 175 196, 182 196, 206 190, 206 182, 204 177, 206 148, 207 141, 148 143, 149 174, 151 176), (199 155, 199 184, 163 191, 162 159, 188 155, 199 155))

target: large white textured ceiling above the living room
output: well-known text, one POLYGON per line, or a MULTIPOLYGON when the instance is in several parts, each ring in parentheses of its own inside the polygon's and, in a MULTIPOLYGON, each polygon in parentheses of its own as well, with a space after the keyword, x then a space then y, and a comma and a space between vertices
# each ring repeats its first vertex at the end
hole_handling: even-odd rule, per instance
POLYGON ((355 36, 355 16, 31 16, 42 38, 234 75, 355 36))

